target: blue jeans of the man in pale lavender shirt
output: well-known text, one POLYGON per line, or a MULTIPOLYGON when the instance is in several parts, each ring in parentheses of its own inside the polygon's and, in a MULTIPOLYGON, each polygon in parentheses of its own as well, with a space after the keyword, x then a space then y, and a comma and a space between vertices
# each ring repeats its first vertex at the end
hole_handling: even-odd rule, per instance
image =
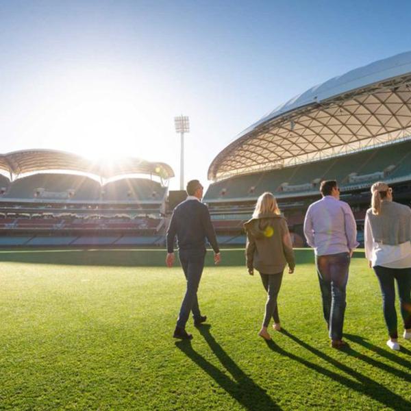
POLYGON ((319 275, 323 314, 329 330, 329 338, 341 340, 345 306, 345 288, 348 280, 349 253, 316 256, 316 269, 319 275))

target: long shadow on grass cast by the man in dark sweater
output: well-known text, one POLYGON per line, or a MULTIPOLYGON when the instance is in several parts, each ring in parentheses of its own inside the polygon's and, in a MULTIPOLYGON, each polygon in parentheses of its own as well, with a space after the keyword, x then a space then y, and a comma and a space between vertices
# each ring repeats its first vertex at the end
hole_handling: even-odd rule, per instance
POLYGON ((199 332, 235 381, 197 353, 197 351, 192 348, 190 341, 179 341, 175 343, 175 345, 181 349, 188 358, 195 362, 195 364, 206 371, 206 373, 208 373, 208 375, 210 375, 221 388, 227 391, 229 395, 236 399, 236 401, 247 410, 282 410, 282 408, 271 399, 266 391, 253 382, 253 380, 240 369, 232 358, 229 357, 210 333, 210 327, 210 325, 201 325, 199 327, 199 332))

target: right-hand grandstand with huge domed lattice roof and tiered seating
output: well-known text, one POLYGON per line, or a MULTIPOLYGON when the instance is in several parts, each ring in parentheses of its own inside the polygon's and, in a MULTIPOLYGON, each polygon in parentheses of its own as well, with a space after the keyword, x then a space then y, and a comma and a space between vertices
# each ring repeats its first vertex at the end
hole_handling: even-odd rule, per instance
POLYGON ((411 52, 315 86, 245 129, 210 164, 208 203, 220 242, 244 245, 242 223, 264 191, 277 197, 296 246, 319 184, 336 179, 363 241, 369 189, 384 180, 411 200, 411 52))

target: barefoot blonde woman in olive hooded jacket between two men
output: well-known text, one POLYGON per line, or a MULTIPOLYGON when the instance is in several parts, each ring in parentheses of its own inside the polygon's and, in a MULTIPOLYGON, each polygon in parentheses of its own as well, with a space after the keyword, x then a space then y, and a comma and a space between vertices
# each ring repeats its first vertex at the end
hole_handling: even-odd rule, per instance
POLYGON ((247 269, 253 275, 260 272, 262 285, 267 292, 264 320, 259 336, 271 340, 267 331, 273 317, 273 328, 281 329, 277 308, 277 295, 281 287, 283 271, 288 264, 288 273, 294 272, 295 258, 286 220, 281 216, 277 201, 271 192, 258 198, 253 218, 244 225, 247 232, 247 269))

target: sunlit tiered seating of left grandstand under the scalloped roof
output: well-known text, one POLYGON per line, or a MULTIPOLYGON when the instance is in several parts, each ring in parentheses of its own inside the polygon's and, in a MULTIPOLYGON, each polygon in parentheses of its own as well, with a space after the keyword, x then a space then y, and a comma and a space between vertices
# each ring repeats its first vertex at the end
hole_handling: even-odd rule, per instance
POLYGON ((164 243, 160 211, 167 188, 151 179, 126 178, 101 186, 82 175, 38 173, 9 184, 0 175, 1 187, 0 247, 164 243), (123 201, 134 204, 117 206, 123 201))

